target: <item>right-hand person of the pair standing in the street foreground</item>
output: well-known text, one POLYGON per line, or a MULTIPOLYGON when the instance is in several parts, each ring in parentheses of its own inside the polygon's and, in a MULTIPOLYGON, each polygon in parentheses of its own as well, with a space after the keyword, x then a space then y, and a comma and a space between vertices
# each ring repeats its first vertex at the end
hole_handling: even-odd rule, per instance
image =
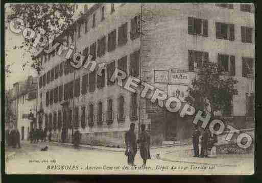
POLYGON ((150 134, 145 130, 146 125, 141 124, 141 133, 139 134, 138 143, 139 151, 141 158, 143 159, 143 165, 146 166, 147 160, 151 159, 150 157, 150 134))

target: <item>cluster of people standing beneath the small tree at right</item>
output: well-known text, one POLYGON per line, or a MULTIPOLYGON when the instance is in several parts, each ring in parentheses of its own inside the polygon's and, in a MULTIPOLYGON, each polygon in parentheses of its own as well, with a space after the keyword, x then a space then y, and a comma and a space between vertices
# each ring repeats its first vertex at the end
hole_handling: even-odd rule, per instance
POLYGON ((217 136, 205 129, 202 134, 196 125, 192 135, 194 157, 207 158, 208 151, 218 142, 217 136))

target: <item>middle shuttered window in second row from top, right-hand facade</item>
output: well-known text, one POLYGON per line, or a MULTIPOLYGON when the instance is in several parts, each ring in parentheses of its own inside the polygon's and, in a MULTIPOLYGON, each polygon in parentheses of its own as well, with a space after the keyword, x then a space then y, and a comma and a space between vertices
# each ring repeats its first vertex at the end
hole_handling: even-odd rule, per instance
POLYGON ((234 24, 216 22, 216 38, 233 41, 235 39, 234 24))

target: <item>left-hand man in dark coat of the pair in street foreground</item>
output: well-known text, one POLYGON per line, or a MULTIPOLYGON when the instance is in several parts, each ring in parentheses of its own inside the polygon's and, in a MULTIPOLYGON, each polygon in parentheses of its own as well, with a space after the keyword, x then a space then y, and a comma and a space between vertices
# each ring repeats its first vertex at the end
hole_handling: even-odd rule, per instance
POLYGON ((137 152, 137 143, 135 137, 135 124, 130 124, 130 129, 125 134, 125 143, 126 143, 126 152, 127 155, 127 163, 128 165, 134 166, 135 154, 137 152))

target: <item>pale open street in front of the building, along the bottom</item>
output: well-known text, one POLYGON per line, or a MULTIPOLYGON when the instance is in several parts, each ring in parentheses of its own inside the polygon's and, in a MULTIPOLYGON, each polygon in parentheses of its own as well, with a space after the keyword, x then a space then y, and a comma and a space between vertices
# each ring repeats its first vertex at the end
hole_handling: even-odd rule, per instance
POLYGON ((74 149, 53 144, 21 142, 20 149, 8 147, 7 174, 242 174, 252 173, 252 154, 226 154, 216 158, 193 158, 189 146, 151 150, 151 160, 142 167, 139 151, 135 167, 127 165, 124 152, 74 149), (47 151, 40 151, 48 146, 47 151), (159 158, 156 154, 160 154, 159 158), (230 170, 230 171, 229 171, 230 170))

